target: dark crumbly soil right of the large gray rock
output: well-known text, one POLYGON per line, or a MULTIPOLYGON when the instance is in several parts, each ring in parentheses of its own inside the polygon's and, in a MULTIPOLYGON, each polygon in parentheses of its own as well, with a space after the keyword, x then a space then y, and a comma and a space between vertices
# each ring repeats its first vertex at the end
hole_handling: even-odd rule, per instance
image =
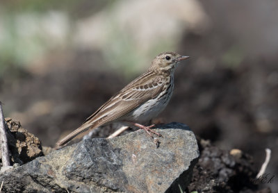
POLYGON ((187 192, 270 193, 263 183, 274 183, 274 176, 256 178, 253 158, 238 149, 224 151, 207 140, 198 140, 201 156, 193 169, 187 192))

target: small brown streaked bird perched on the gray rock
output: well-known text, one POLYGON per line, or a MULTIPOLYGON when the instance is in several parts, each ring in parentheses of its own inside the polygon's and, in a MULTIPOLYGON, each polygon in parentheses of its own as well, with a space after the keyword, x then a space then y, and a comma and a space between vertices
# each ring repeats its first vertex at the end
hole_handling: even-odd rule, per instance
POLYGON ((145 126, 142 123, 150 121, 165 109, 173 93, 174 71, 181 60, 188 58, 174 52, 156 56, 147 72, 106 101, 79 128, 59 140, 56 147, 64 146, 80 133, 114 122, 127 122, 145 130, 151 137, 153 134, 161 137, 151 129, 154 125, 145 126))

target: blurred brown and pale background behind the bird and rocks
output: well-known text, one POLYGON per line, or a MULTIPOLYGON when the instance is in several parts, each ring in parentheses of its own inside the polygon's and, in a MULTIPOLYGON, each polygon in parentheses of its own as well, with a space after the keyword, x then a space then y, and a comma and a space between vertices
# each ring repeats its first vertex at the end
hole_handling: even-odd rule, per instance
POLYGON ((277 9, 275 0, 1 0, 4 116, 54 146, 158 53, 176 51, 191 58, 158 118, 249 153, 258 170, 270 148, 278 192, 277 9))

